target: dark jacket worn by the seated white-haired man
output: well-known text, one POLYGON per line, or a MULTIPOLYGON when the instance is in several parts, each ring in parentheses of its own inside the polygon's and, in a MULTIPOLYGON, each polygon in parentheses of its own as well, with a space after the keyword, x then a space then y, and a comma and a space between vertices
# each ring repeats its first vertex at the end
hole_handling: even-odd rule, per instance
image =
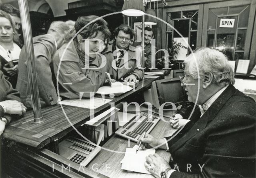
POLYGON ((168 141, 170 164, 179 168, 171 178, 255 178, 254 100, 230 85, 200 115, 196 108, 191 121, 168 141))

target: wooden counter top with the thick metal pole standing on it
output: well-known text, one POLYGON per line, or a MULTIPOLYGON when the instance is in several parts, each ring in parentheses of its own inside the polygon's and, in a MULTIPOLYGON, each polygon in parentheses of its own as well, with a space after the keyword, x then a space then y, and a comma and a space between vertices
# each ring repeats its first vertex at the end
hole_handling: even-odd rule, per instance
MULTIPOLYGON (((156 79, 163 78, 164 75, 166 75, 166 73, 156 79)), ((156 79, 144 78, 138 83, 138 87, 135 90, 131 90, 119 97, 115 97, 111 102, 118 104, 128 98, 134 97, 138 92, 148 89, 156 79)), ((111 99, 109 97, 105 98, 111 99)), ((109 108, 110 104, 107 103, 97 108, 94 113, 95 115, 98 115, 109 108)), ((30 123, 34 118, 33 112, 28 111, 25 113, 24 117, 18 121, 12 122, 6 127, 3 137, 41 149, 48 143, 56 141, 58 138, 61 138, 68 132, 74 130, 73 126, 78 127, 85 121, 88 121, 90 118, 90 110, 64 105, 62 108, 59 104, 56 104, 55 106, 43 108, 42 115, 46 121, 33 124, 30 123), (69 123, 67 118, 73 126, 69 123)))

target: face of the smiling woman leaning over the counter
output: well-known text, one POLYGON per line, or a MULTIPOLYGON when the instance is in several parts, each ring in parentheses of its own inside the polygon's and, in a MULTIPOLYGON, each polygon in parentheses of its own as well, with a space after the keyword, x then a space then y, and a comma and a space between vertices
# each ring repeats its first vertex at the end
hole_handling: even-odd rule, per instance
MULTIPOLYGON (((88 38, 90 39, 90 38, 88 38)), ((104 44, 104 35, 102 32, 98 32, 96 37, 92 38, 89 40, 89 56, 92 58, 96 57, 96 53, 100 53, 105 49, 105 44, 104 44), (94 54, 95 53, 95 54, 94 54)), ((82 51, 86 52, 85 49, 88 48, 85 46, 85 41, 83 40, 82 43, 82 51)))

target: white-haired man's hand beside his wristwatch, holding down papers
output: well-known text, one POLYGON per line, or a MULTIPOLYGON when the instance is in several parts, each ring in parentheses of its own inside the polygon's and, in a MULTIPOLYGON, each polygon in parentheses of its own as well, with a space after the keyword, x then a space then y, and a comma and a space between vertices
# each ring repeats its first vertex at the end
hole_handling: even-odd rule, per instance
POLYGON ((146 156, 146 162, 144 163, 144 166, 156 178, 161 178, 161 172, 167 168, 170 168, 168 162, 157 153, 154 155, 146 156))

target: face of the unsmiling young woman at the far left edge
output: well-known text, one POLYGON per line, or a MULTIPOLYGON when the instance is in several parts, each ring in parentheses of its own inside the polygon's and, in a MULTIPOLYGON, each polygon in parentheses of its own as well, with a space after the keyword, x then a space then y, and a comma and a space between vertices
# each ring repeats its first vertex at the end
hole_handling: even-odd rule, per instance
POLYGON ((10 43, 13 41, 13 28, 11 22, 4 17, 0 17, 1 43, 10 43))

